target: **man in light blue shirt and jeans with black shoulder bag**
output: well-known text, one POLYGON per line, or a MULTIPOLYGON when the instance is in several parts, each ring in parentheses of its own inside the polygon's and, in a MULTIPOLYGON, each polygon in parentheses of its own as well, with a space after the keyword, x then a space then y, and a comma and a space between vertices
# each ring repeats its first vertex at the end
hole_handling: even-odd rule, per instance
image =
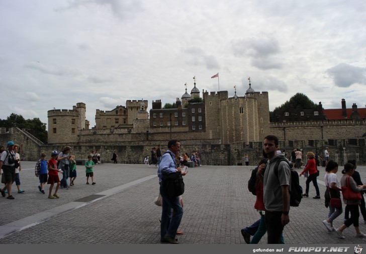
MULTIPOLYGON (((164 194, 161 184, 163 174, 177 174, 181 172, 180 167, 176 166, 175 154, 180 151, 179 140, 172 139, 168 142, 168 150, 161 158, 157 176, 159 177, 160 195, 162 197, 162 211, 161 211, 161 228, 160 228, 160 242, 178 243, 175 239, 176 230, 179 227, 181 218, 183 216, 183 208, 179 201, 179 196, 170 197, 164 194)), ((185 172, 181 173, 186 175, 185 172)))

